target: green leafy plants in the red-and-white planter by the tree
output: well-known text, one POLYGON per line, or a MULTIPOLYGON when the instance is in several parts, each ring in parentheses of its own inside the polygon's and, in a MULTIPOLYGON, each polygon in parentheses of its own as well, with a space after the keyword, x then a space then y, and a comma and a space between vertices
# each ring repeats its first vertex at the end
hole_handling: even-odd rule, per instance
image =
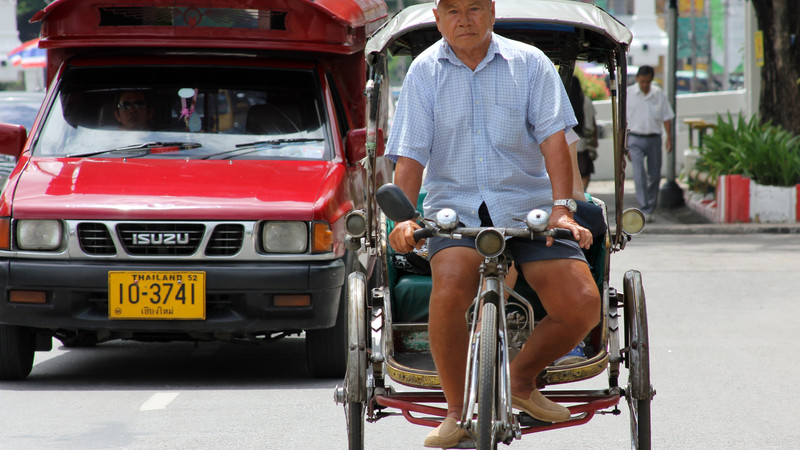
POLYGON ((746 121, 741 114, 734 123, 717 116, 717 128, 703 140, 696 167, 714 178, 742 175, 763 185, 794 186, 800 183, 800 136, 756 116, 746 121))

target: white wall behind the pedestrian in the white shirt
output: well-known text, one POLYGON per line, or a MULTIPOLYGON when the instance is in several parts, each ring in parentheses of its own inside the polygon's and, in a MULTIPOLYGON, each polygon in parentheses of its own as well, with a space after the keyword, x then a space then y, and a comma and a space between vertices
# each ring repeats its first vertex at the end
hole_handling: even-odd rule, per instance
MULTIPOLYGON (((684 119, 687 118, 700 118, 706 122, 716 123, 717 114, 725 116, 727 112, 735 118, 739 112, 745 113, 745 96, 746 90, 738 91, 724 91, 724 92, 708 92, 702 94, 686 94, 679 95, 676 99, 676 132, 678 134, 675 144, 677 150, 675 157, 675 171, 680 174, 684 166, 684 150, 689 147, 689 127, 684 124, 684 119)), ((594 102, 594 108, 597 111, 598 127, 602 123, 608 124, 605 128, 604 137, 599 140, 599 148, 597 150, 598 157, 594 162, 594 175, 592 178, 595 180, 613 180, 614 179, 614 164, 612 159, 612 142, 611 142, 611 100, 600 100, 594 102)), ((747 117, 747 115, 746 115, 747 117)), ((749 117, 748 117, 749 118, 749 117)), ((697 145, 697 136, 695 135, 695 145, 697 145)), ((664 152, 664 164, 662 165, 662 174, 666 173, 667 167, 667 153, 664 152)), ((633 170, 628 165, 626 169, 626 177, 633 177, 633 170)))

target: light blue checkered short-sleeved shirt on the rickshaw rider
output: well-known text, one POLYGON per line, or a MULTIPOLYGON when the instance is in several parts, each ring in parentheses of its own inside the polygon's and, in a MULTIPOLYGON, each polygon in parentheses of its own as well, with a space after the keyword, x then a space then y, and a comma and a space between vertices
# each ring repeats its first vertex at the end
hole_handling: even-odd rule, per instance
POLYGON ((492 35, 473 72, 444 40, 409 67, 387 155, 427 167, 426 217, 452 208, 480 225, 485 202, 495 226, 521 227, 550 210, 552 189, 539 143, 577 124, 561 79, 539 49, 492 35))

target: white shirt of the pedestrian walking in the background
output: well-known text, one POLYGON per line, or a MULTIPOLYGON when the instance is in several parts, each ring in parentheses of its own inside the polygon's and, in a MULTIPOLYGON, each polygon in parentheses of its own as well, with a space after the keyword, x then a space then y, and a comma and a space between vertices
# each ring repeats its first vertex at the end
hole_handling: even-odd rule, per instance
POLYGON ((637 134, 661 134, 664 122, 672 120, 675 113, 660 87, 650 85, 645 95, 638 83, 628 86, 628 129, 637 134))

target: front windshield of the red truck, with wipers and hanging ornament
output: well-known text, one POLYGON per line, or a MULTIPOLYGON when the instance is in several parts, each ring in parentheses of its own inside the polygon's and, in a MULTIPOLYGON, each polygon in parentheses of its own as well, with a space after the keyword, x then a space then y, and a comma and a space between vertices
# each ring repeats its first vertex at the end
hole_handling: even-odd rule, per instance
POLYGON ((313 70, 72 67, 34 155, 328 159, 323 106, 313 70))

